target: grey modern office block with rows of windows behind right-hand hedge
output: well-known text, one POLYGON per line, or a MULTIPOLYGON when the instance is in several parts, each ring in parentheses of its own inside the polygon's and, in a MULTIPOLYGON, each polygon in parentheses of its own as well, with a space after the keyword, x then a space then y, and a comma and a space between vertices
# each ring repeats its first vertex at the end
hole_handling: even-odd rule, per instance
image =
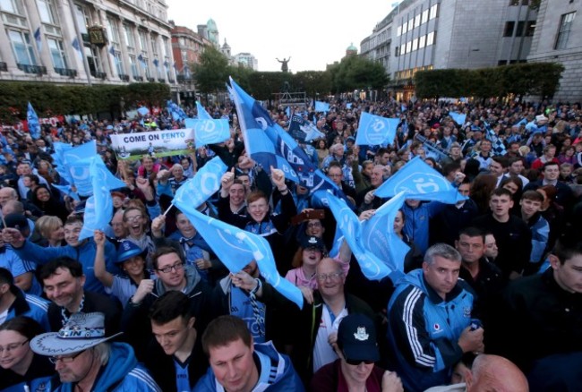
POLYGON ((526 62, 537 13, 527 0, 405 0, 364 38, 398 98, 414 94, 415 72, 526 62))

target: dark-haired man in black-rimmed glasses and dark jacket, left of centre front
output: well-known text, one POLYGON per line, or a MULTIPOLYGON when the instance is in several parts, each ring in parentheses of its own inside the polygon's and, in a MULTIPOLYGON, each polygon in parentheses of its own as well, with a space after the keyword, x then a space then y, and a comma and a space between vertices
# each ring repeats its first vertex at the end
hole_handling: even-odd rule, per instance
POLYGON ((152 265, 157 280, 143 279, 133 297, 125 306, 122 316, 122 330, 133 345, 138 359, 144 357, 145 348, 151 339, 148 313, 158 297, 168 291, 180 291, 188 296, 190 311, 196 324, 203 331, 210 312, 210 287, 202 279, 195 267, 187 266, 171 247, 161 247, 154 253, 152 265))

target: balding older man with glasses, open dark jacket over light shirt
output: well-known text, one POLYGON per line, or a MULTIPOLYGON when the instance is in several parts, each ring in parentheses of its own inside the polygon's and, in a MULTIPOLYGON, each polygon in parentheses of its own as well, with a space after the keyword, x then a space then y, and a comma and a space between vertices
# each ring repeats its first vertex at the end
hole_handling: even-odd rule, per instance
POLYGON ((333 345, 338 337, 339 322, 347 314, 363 313, 374 320, 367 303, 345 292, 346 274, 338 261, 322 259, 315 274, 318 289, 313 292, 313 302, 305 302, 296 318, 295 340, 290 342, 294 345, 295 369, 304 381, 322 366, 338 359, 333 345))

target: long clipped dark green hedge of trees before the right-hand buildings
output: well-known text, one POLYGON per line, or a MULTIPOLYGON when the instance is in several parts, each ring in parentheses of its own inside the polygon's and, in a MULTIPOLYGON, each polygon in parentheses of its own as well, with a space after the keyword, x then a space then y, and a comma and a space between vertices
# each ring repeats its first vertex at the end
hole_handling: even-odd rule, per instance
POLYGON ((432 70, 415 73, 418 98, 514 95, 552 97, 564 67, 554 63, 510 64, 477 70, 432 70))

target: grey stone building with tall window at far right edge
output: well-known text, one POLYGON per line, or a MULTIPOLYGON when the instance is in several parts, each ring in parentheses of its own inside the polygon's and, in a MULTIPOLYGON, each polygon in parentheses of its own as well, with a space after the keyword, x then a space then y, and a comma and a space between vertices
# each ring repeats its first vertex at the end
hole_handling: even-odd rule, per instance
POLYGON ((543 0, 527 61, 564 65, 555 102, 582 101, 582 4, 543 0))

